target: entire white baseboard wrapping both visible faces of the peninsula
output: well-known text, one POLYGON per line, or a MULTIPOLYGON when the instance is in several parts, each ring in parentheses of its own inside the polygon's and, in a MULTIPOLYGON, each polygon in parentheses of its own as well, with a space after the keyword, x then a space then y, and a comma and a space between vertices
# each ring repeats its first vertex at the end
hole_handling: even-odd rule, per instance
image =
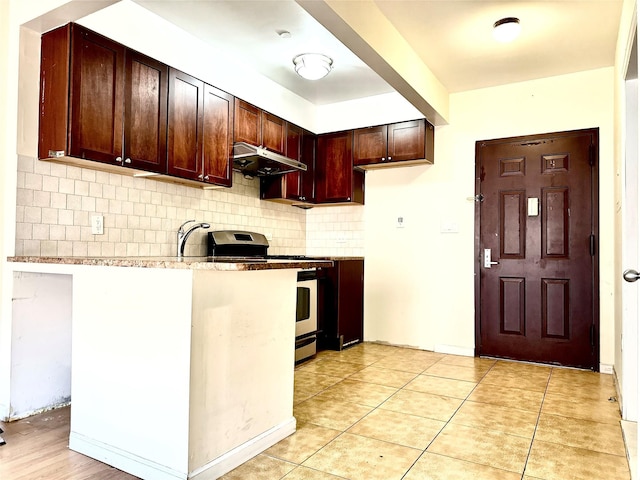
POLYGON ((69 448, 144 480, 214 480, 295 431, 296 419, 291 417, 188 474, 75 432, 69 436, 69 448))

